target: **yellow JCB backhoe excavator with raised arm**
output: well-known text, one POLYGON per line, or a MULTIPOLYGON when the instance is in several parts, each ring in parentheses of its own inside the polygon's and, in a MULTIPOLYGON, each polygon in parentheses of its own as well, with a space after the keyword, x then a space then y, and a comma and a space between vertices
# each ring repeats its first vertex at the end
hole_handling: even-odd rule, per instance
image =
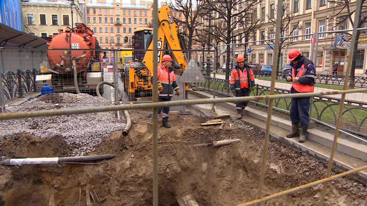
MULTIPOLYGON (((158 64, 160 64, 163 55, 171 55, 174 60, 172 62, 174 72, 181 76, 188 61, 182 52, 184 45, 178 34, 178 26, 173 21, 168 6, 158 9, 158 18, 158 56, 154 58, 158 58, 158 64)), ((153 31, 152 28, 138 28, 134 30, 134 36, 132 36, 132 60, 129 60, 129 67, 128 69, 126 67, 123 75, 124 90, 130 101, 135 101, 139 97, 152 96, 152 83, 150 82, 150 75, 153 73, 152 32, 156 31, 153 31)), ((187 83, 185 90, 188 90, 187 83)))

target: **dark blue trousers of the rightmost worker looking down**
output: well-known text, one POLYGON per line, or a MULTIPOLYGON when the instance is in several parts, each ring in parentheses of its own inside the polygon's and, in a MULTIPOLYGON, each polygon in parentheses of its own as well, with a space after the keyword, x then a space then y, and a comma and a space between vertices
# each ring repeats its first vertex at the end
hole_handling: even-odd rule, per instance
POLYGON ((292 98, 290 116, 293 124, 300 122, 301 126, 308 126, 310 98, 292 98))

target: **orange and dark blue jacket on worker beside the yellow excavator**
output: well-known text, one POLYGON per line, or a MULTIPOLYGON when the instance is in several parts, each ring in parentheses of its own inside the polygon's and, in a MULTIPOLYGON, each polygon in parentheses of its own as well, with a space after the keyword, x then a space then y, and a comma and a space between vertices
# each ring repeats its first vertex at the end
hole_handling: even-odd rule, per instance
MULTIPOLYGON (((176 83, 175 73, 173 72, 173 68, 167 68, 163 64, 158 65, 158 82, 160 82, 163 86, 163 90, 159 93, 159 97, 172 97, 173 91, 179 89, 176 83)), ((150 81, 153 81, 153 74, 150 78, 150 81)))

